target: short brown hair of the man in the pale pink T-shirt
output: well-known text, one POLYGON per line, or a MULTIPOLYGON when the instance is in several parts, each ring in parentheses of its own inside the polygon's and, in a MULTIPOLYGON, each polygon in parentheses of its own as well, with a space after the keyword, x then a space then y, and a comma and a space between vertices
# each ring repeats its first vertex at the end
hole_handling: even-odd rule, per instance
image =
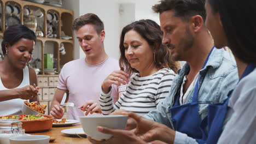
POLYGON ((83 27, 84 25, 88 24, 94 25, 96 32, 98 34, 100 34, 101 31, 104 30, 104 24, 101 21, 101 19, 97 15, 92 13, 88 13, 77 17, 77 19, 75 19, 73 22, 72 30, 77 31, 80 27, 83 27))

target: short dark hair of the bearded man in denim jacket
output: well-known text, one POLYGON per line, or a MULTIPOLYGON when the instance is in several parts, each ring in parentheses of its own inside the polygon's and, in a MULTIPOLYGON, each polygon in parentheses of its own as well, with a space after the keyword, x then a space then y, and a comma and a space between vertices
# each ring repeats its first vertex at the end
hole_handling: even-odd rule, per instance
POLYGON ((174 10, 174 16, 181 17, 183 21, 189 21, 194 15, 200 15, 205 21, 205 0, 161 0, 159 4, 153 5, 155 13, 174 10))

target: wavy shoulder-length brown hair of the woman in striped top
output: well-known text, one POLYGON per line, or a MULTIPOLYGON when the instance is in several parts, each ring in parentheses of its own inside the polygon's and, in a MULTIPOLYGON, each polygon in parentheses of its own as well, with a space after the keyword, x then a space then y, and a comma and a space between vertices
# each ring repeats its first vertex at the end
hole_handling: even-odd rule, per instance
POLYGON ((173 61, 173 59, 171 58, 171 52, 167 49, 165 45, 162 45, 162 31, 158 23, 152 20, 135 21, 123 28, 119 44, 119 49, 121 53, 119 58, 120 68, 123 67, 130 75, 133 72, 138 72, 136 69, 131 68, 130 63, 125 57, 124 37, 125 34, 131 30, 139 33, 142 38, 144 38, 147 43, 156 50, 154 64, 157 68, 170 68, 175 73, 177 72, 179 67, 178 63, 173 61))

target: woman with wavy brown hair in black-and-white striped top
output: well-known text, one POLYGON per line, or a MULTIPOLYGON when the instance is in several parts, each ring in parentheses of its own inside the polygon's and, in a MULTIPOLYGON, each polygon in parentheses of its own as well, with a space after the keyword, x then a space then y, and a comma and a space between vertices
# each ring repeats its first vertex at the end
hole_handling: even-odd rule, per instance
POLYGON ((83 107, 89 106, 86 114, 102 111, 103 115, 108 115, 114 110, 123 109, 144 115, 155 110, 168 95, 178 69, 161 40, 160 26, 152 20, 139 20, 124 27, 119 45, 119 65, 122 69, 113 71, 103 81, 100 106, 95 102, 85 103, 83 107), (126 88, 115 104, 111 97, 112 85, 126 88))

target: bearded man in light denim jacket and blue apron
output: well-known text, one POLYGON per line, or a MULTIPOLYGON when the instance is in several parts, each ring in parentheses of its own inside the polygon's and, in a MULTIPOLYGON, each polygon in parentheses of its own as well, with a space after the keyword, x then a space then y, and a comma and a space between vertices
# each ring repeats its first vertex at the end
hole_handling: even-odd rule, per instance
MULTIPOLYGON (((204 4, 203 0, 162 0, 153 6, 153 10, 160 13, 160 26, 164 32, 162 43, 168 46, 175 61, 187 62, 174 77, 169 96, 158 104, 156 110, 144 115, 174 130, 172 135, 166 135, 172 139, 168 143, 185 143, 186 136, 205 139, 206 128, 203 126, 207 125, 208 105, 223 102, 238 81, 234 57, 213 46, 211 34, 204 24, 204 4)), ((153 124, 147 125, 145 118, 136 118, 135 114, 131 117, 137 119, 137 123, 130 118, 127 129, 137 125, 135 135, 142 140, 150 142, 158 140, 157 135, 165 135, 153 130, 153 124)), ((108 140, 110 143, 125 136, 132 139, 132 131, 122 133, 103 127, 98 130, 114 135, 108 140)))

